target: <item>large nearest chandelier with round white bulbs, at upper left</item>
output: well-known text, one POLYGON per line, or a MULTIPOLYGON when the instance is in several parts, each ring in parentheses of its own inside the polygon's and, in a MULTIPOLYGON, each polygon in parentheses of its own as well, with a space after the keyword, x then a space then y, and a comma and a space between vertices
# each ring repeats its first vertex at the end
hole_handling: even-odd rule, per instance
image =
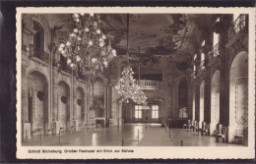
POLYGON ((80 68, 84 75, 95 75, 107 68, 108 63, 116 56, 109 39, 100 29, 98 15, 74 14, 75 28, 66 43, 61 43, 58 52, 67 58, 72 68, 80 68))

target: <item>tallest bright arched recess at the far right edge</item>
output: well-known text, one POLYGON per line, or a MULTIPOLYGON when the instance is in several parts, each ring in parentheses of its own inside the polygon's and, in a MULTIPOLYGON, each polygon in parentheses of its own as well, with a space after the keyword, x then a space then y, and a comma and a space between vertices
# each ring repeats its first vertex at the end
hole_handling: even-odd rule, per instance
POLYGON ((248 54, 238 53, 230 66, 229 141, 248 126, 248 54))

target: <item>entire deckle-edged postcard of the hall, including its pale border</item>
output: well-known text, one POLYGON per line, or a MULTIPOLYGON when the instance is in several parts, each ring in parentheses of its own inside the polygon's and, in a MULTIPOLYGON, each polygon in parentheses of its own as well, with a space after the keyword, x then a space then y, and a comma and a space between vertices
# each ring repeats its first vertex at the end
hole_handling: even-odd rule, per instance
POLYGON ((253 8, 17 11, 19 157, 253 156, 253 8))

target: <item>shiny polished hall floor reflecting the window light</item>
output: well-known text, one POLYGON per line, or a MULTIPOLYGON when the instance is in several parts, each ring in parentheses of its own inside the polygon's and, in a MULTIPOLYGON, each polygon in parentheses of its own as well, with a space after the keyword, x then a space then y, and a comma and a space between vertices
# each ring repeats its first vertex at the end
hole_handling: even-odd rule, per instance
MULTIPOLYGON (((173 129, 173 138, 167 136, 164 128, 159 124, 125 124, 122 127, 109 128, 82 128, 79 132, 63 134, 59 136, 43 136, 41 145, 51 146, 180 146, 180 140, 184 140, 184 146, 233 146, 216 142, 215 137, 199 136, 198 133, 186 130, 173 129), (138 141, 139 135, 139 141, 138 141), (123 142, 122 142, 123 139, 123 142)), ((40 137, 34 136, 22 145, 40 145, 40 137)))

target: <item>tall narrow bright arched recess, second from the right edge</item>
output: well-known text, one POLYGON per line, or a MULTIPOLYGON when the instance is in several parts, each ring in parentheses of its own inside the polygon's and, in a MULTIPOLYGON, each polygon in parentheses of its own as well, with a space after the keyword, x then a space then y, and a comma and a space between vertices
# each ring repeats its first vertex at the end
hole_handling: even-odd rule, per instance
POLYGON ((210 135, 214 134, 220 122, 220 75, 218 70, 214 73, 211 85, 211 126, 210 135))

